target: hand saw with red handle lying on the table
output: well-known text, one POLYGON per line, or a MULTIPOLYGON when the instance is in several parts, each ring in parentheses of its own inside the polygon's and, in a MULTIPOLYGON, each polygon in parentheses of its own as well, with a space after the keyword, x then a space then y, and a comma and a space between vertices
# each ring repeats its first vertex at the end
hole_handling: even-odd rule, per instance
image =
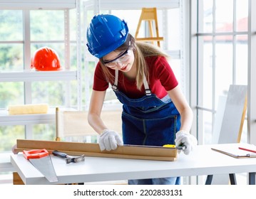
POLYGON ((29 160, 49 182, 58 182, 58 178, 51 161, 51 156, 46 149, 24 150, 23 154, 24 157, 29 160))

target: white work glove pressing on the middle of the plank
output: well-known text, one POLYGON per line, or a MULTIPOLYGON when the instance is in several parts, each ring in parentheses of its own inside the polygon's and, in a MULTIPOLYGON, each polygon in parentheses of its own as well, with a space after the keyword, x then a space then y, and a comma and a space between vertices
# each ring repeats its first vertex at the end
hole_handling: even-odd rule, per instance
POLYGON ((105 129, 99 137, 98 144, 101 151, 105 149, 111 151, 118 148, 118 146, 122 146, 123 140, 116 131, 105 129))

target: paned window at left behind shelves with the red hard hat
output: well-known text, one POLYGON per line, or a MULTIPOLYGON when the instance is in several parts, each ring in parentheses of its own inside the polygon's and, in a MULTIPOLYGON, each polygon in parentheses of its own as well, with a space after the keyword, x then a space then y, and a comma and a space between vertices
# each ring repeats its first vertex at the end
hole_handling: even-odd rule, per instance
POLYGON ((51 10, 23 10, 22 3, 18 10, 0 10, 0 151, 11 151, 16 139, 55 139, 55 107, 78 107, 74 2, 63 8, 51 4, 51 10), (63 70, 31 70, 31 55, 43 46, 56 50, 63 70), (7 110, 10 105, 40 103, 48 104, 48 114, 11 116, 7 110))

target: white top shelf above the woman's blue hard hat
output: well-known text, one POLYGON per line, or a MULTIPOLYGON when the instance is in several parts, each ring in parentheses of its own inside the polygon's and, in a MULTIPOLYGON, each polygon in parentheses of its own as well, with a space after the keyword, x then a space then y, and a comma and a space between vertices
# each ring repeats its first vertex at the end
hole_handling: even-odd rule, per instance
MULTIPOLYGON (((175 9, 180 6, 180 0, 98 0, 101 10, 138 10, 141 8, 175 9)), ((96 0, 84 1, 86 9, 93 9, 96 0)))

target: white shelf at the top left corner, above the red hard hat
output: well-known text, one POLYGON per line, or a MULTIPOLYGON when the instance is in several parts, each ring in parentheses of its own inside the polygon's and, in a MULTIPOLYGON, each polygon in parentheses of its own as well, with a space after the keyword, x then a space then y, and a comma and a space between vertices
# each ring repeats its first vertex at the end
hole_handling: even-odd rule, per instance
POLYGON ((0 0, 0 9, 75 9, 76 0, 0 0))

